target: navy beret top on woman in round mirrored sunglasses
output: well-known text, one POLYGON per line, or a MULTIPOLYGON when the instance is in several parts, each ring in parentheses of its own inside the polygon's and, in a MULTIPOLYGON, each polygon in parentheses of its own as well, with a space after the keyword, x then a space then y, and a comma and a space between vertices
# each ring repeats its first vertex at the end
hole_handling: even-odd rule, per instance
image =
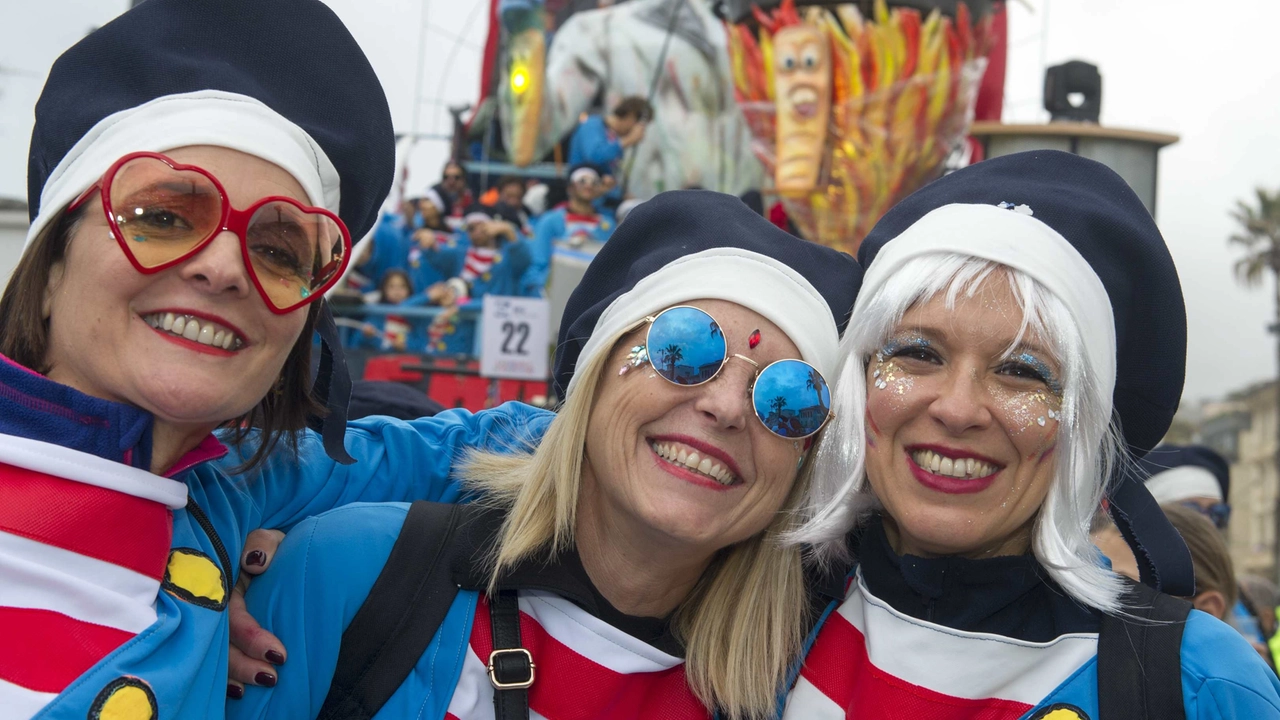
MULTIPOLYGON (((584 345, 614 300, 668 263, 717 247, 748 250, 786 264, 822 295, 844 332, 863 277, 852 256, 787 234, 732 195, 663 192, 627 215, 570 296, 556 346, 556 395, 564 397, 584 345)), ((691 291, 690 300, 699 297, 696 286, 691 291)))

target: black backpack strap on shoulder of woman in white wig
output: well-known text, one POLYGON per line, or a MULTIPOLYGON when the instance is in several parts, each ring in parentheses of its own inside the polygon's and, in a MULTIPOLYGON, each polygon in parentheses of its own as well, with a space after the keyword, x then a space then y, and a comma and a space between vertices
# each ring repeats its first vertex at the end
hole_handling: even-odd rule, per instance
POLYGON ((1132 618, 1103 615, 1098 633, 1100 720, 1185 720, 1183 628, 1185 600, 1132 583, 1132 618))

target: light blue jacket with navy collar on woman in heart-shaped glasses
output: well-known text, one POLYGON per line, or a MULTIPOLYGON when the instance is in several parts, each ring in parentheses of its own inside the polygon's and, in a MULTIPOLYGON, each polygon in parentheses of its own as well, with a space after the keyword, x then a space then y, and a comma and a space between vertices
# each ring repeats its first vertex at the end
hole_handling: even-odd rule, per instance
MULTIPOLYGON (((448 480, 454 452, 467 447, 508 448, 512 437, 540 436, 550 418, 550 413, 518 404, 476 415, 451 410, 412 423, 365 418, 347 432, 355 465, 333 462, 319 436, 307 433, 297 457, 276 451, 260 471, 241 477, 233 477, 229 469, 242 462, 242 456, 225 452, 210 438, 182 459, 172 477, 187 486, 189 500, 204 509, 225 546, 233 565, 223 569, 230 574, 229 587, 239 571, 250 530, 287 529, 307 516, 357 501, 457 501, 458 487, 448 480)), ((88 397, 3 357, 0 433, 55 442, 134 466, 150 464, 150 415, 88 397)), ((172 547, 218 557, 214 541, 187 509, 173 512, 172 547)), ((86 720, 97 694, 125 675, 141 678, 152 688, 160 720, 223 717, 229 641, 225 609, 211 610, 161 591, 156 615, 155 624, 77 678, 36 717, 86 720)))

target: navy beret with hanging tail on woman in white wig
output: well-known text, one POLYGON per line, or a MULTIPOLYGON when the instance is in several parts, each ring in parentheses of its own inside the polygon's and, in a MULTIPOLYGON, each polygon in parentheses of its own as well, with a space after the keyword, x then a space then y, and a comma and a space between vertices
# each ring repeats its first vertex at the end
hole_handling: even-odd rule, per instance
MULTIPOLYGON (((1027 205, 1102 281, 1115 315, 1115 415, 1134 455, 1160 442, 1178 411, 1187 364, 1181 284, 1155 220, 1101 163, 1053 150, 986 160, 946 176, 891 209, 863 241, 864 266, 916 220, 952 204, 1027 205)), ((1116 527, 1142 580, 1170 594, 1194 592, 1190 553, 1142 482, 1121 473, 1110 496, 1116 527)))

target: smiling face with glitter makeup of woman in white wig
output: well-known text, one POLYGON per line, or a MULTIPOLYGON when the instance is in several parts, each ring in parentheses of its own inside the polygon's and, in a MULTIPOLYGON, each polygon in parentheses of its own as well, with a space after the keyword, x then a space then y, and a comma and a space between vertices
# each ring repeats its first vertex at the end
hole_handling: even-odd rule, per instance
POLYGON ((1020 329, 997 274, 952 309, 942 297, 909 309, 868 357, 867 474, 899 552, 1029 547, 1056 468, 1064 383, 1043 340, 1019 340, 1020 329))

